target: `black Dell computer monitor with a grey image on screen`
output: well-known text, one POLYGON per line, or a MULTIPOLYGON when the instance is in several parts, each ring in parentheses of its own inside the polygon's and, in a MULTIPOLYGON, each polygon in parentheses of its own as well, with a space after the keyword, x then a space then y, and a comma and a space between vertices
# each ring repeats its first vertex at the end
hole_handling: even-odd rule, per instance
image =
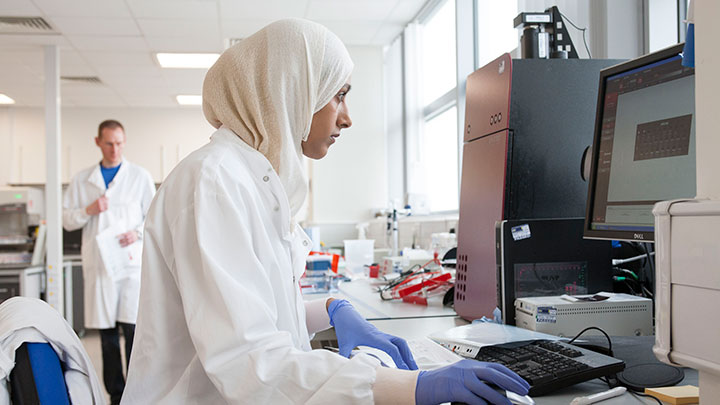
POLYGON ((695 70, 682 49, 600 72, 584 237, 651 242, 654 204, 695 197, 695 70))

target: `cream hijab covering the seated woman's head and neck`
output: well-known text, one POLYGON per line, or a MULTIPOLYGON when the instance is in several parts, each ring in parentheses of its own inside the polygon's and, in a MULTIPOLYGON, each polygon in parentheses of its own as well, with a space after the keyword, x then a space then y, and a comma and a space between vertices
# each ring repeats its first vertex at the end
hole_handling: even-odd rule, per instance
POLYGON ((203 112, 270 161, 294 217, 307 195, 301 141, 313 114, 337 94, 353 63, 340 39, 320 24, 274 22, 226 50, 203 83, 203 112))

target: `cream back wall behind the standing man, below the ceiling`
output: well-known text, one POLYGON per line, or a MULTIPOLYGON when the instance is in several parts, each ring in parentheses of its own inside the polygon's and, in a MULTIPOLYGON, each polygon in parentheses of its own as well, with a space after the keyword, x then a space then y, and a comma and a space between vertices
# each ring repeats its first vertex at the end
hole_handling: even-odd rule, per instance
MULTIPOLYGON (((44 110, 11 107, 6 115, 9 136, 5 137, 9 142, 4 144, 9 146, 12 155, 0 164, 0 170, 9 172, 5 182, 44 183, 44 110)), ((162 181, 180 159, 207 142, 213 131, 199 107, 63 108, 63 182, 100 160, 100 151, 93 138, 97 135, 98 124, 108 118, 117 119, 125 127, 125 157, 150 171, 156 182, 162 181)))

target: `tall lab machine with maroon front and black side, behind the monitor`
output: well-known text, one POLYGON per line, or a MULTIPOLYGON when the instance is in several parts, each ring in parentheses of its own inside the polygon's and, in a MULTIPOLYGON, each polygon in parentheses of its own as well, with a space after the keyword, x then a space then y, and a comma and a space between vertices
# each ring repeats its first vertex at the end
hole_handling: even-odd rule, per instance
POLYGON ((585 215, 583 151, 592 143, 600 59, 511 59, 468 76, 455 310, 497 306, 495 223, 585 215))

